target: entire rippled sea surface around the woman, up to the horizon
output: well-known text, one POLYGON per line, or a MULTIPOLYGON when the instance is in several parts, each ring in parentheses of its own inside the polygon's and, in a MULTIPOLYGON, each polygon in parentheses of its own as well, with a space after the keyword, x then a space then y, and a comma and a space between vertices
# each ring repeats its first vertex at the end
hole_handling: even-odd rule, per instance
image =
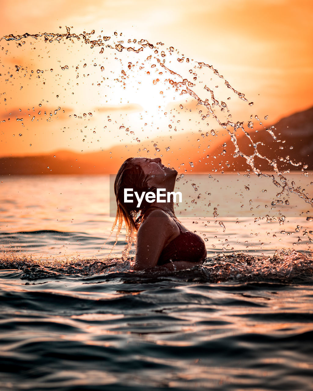
MULTIPOLYGON (((312 174, 284 176, 311 199, 312 174)), ((0 178, 0 389, 312 390, 311 205, 249 172, 180 175, 207 260, 133 271, 112 190, 0 178)))

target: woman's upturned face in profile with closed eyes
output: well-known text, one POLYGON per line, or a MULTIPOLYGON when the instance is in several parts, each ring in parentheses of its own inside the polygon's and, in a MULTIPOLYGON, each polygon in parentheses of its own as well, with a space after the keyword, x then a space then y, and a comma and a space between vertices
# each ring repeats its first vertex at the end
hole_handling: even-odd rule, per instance
POLYGON ((150 180, 155 179, 156 183, 173 178, 173 176, 176 178, 177 175, 177 171, 165 167, 160 158, 133 158, 132 163, 139 165, 143 172, 150 177, 150 180))

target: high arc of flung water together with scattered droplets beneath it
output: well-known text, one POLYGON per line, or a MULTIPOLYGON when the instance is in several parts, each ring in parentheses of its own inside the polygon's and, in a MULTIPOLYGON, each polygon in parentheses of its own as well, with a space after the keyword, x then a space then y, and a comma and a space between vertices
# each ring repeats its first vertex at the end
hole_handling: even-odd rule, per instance
MULTIPOLYGON (((221 129, 225 129, 227 131, 228 137, 235 147, 235 151, 233 154, 234 158, 243 158, 243 161, 246 162, 246 165, 247 165, 246 167, 249 170, 251 170, 254 174, 256 174, 258 177, 269 178, 272 181, 272 183, 277 187, 277 195, 276 195, 277 198, 282 197, 282 195, 284 195, 284 194, 287 197, 289 197, 290 193, 293 193, 293 194, 296 194, 298 197, 300 197, 302 200, 304 200, 306 203, 309 203, 311 206, 313 206, 313 199, 310 199, 310 197, 308 195, 306 195, 300 187, 297 187, 297 185, 294 182, 292 182, 290 184, 288 182, 288 179, 283 175, 283 172, 281 169, 279 169, 279 166, 277 163, 277 161, 279 160, 279 157, 277 157, 275 159, 270 159, 265 154, 261 154, 259 152, 258 147, 259 147, 260 142, 254 142, 254 136, 250 135, 250 133, 248 133, 248 131, 246 130, 246 128, 247 129, 254 128, 254 124, 251 120, 247 121, 247 125, 245 125, 245 123, 241 120, 237 120, 237 121, 231 120, 232 115, 230 115, 230 114, 228 115, 226 120, 225 120, 225 118, 221 118, 221 117, 223 117, 223 115, 225 113, 229 113, 230 110, 228 109, 228 105, 226 104, 226 102, 224 102, 223 100, 217 99, 215 91, 212 88, 210 88, 208 86, 208 84, 205 84, 203 90, 206 91, 209 95, 208 95, 208 97, 202 96, 201 94, 203 93, 203 91, 200 91, 200 93, 196 91, 196 80, 197 80, 198 76, 196 75, 195 72, 193 72, 193 70, 189 70, 189 74, 190 75, 192 74, 192 76, 194 76, 194 77, 193 77, 193 79, 189 79, 189 76, 185 77, 185 75, 183 75, 182 72, 178 72, 176 70, 171 69, 172 66, 170 65, 171 60, 169 60, 169 56, 172 56, 171 58, 173 59, 173 56, 175 54, 175 49, 173 47, 165 48, 164 43, 158 42, 156 44, 152 44, 149 41, 147 41, 146 39, 140 39, 140 40, 128 39, 127 42, 128 42, 128 44, 131 44, 131 45, 127 46, 127 45, 124 45, 124 40, 120 40, 117 42, 114 41, 114 39, 121 39, 121 38, 116 38, 117 34, 114 34, 114 36, 112 36, 112 37, 103 35, 103 36, 97 37, 97 39, 92 39, 92 36, 94 34, 95 34, 95 30, 92 30, 89 33, 84 31, 81 34, 75 34, 70 31, 69 27, 66 27, 66 32, 61 33, 61 34, 52 33, 52 32, 48 32, 48 33, 45 32, 45 33, 40 33, 40 34, 25 33, 23 35, 16 35, 16 36, 14 36, 13 34, 9 34, 9 35, 2 37, 0 39, 0 41, 4 41, 4 40, 5 41, 16 41, 18 43, 18 45, 21 45, 20 41, 22 41, 22 44, 24 44, 25 43, 25 41, 23 41, 24 39, 35 39, 35 40, 43 39, 43 41, 45 43, 52 43, 54 41, 61 43, 61 41, 70 40, 74 44, 74 43, 80 41, 81 43, 89 46, 90 49, 100 47, 101 50, 100 50, 99 54, 104 53, 104 48, 114 50, 117 52, 117 57, 115 57, 115 59, 116 60, 120 59, 120 61, 122 61, 122 60, 121 60, 121 57, 119 57, 120 56, 119 53, 128 52, 128 53, 133 53, 133 54, 142 54, 144 51, 147 51, 148 56, 146 57, 146 59, 144 61, 145 61, 145 63, 146 62, 150 63, 151 70, 147 71, 146 73, 150 74, 150 72, 152 72, 152 70, 154 71, 156 69, 156 65, 160 66, 162 71, 165 72, 165 77, 166 77, 164 79, 165 84, 167 83, 167 85, 169 87, 174 89, 176 94, 181 95, 181 96, 188 95, 191 98, 195 99, 198 106, 202 106, 205 109, 204 113, 201 110, 198 110, 198 114, 200 115, 201 120, 207 120, 207 118, 209 118, 209 117, 214 118, 214 120, 216 121, 218 126, 221 127, 221 129), (110 43, 109 43, 109 41, 110 41, 110 43), (221 113, 223 114, 223 115, 221 115, 221 117, 216 114, 215 109, 214 109, 216 107, 218 107, 221 110, 221 113), (249 153, 243 152, 243 149, 241 148, 242 142, 241 142, 241 140, 239 141, 239 135, 241 135, 241 134, 243 134, 246 137, 249 144, 253 148, 252 153, 249 154, 249 153), (261 159, 263 161, 266 161, 268 163, 269 169, 272 170, 273 173, 268 174, 268 173, 261 172, 261 170, 258 169, 256 166, 256 163, 255 163, 256 159, 261 159)), ((178 52, 177 52, 177 55, 178 55, 178 52)), ((185 57, 183 55, 180 55, 177 58, 177 63, 178 63, 178 65, 181 65, 181 66, 183 64, 190 63, 190 62, 192 62, 192 60, 190 60, 188 57, 185 57)), ((215 69, 212 65, 209 65, 209 64, 201 62, 201 61, 196 61, 196 64, 198 65, 199 70, 202 68, 208 68, 209 70, 211 70, 214 75, 216 75, 219 79, 223 80, 223 82, 228 90, 232 91, 232 93, 234 93, 240 100, 242 100, 243 102, 248 104, 248 106, 251 107, 253 105, 253 102, 249 102, 249 100, 245 97, 244 93, 237 91, 233 86, 231 86, 231 84, 223 77, 223 75, 219 74, 218 70, 215 69)), ((141 65, 138 64, 140 70, 143 68, 143 65, 144 65, 143 63, 141 65)), ((97 66, 97 64, 94 63, 94 66, 97 66)), ((125 69, 132 70, 134 66, 135 65, 133 63, 128 62, 128 64, 125 64, 125 69)), ((83 68, 85 68, 85 67, 86 67, 86 63, 83 65, 83 68)), ((21 72, 21 71, 25 70, 20 65, 15 65, 15 68, 16 68, 16 72, 21 72)), ((61 69, 64 72, 67 72, 69 69, 68 64, 63 63, 63 65, 61 66, 61 69)), ((76 69, 77 69, 77 67, 76 67, 76 69)), ((98 67, 95 69, 98 69, 98 67)), ((99 69, 101 70, 101 72, 103 72, 105 67, 103 65, 101 65, 101 67, 99 69)), ((43 72, 44 71, 42 69, 37 70, 38 75, 41 75, 43 72)), ((159 74, 161 74, 161 73, 162 72, 159 72, 159 74)), ((83 76, 85 77, 85 74, 83 76)), ((89 76, 89 74, 86 75, 86 77, 88 77, 88 76, 89 76)), ((77 78, 79 77, 78 70, 77 70, 76 77, 77 78)), ((163 77, 164 77, 164 75, 163 75, 163 77)), ((128 78, 127 73, 125 72, 124 69, 122 69, 121 77, 116 78, 115 81, 117 81, 118 83, 122 83, 122 85, 125 85, 127 78, 128 78)), ((157 85, 158 83, 160 83, 160 76, 153 78, 153 84, 157 85)), ((98 85, 100 85, 100 84, 98 84, 98 85)), ((163 91, 160 91, 160 93, 163 93, 163 91)), ((230 99, 230 98, 228 98, 228 99, 230 99)), ((180 107, 180 109, 183 109, 182 104, 180 104, 179 107, 180 107)), ((60 109, 61 109, 61 107, 58 106, 57 109, 50 112, 50 117, 52 116, 52 113, 54 113, 54 115, 57 115, 58 111, 60 109)), ((40 113, 40 111, 39 111, 39 113, 40 113)), ((167 114, 167 113, 164 113, 164 114, 167 114)), ((45 115, 46 115, 46 112, 45 112, 45 115)), ((88 113, 88 115, 90 117, 92 116, 91 111, 88 113)), ((83 115, 80 115, 80 116, 74 114, 74 118, 82 118, 82 117, 86 118, 87 117, 86 113, 83 113, 83 115)), ((35 119, 35 116, 32 116, 31 118, 32 118, 31 120, 33 121, 35 119)), ((264 126, 258 115, 254 115, 254 118, 259 123, 259 125, 261 125, 264 128, 264 130, 272 137, 272 139, 275 142, 281 141, 281 140, 277 140, 277 136, 274 133, 274 131, 275 131, 274 126, 264 126)), ((250 119, 252 119, 252 116, 250 119)), ((264 119, 267 119, 267 116, 265 116, 264 119)), ((16 117, 16 120, 23 121, 23 118, 16 117)), ((111 122, 112 119, 108 118, 108 121, 111 122)), ((125 128, 126 131, 129 131, 129 127, 120 126, 120 129, 121 129, 121 127, 125 128)), ((172 125, 169 125, 169 127, 171 129, 172 125)), ((174 130, 175 131, 177 130, 176 127, 174 130)), ((81 132, 83 132, 83 131, 81 131, 81 132)), ((130 131, 129 133, 133 136, 134 140, 136 140, 138 143, 140 142, 140 138, 133 131, 130 131)), ((215 130, 212 129, 210 131, 210 133, 207 132, 206 135, 203 133, 203 137, 208 136, 209 134, 211 136, 218 137, 218 131, 216 131, 216 129, 215 130)), ((22 136, 22 133, 20 133, 20 136, 22 136)), ((86 140, 86 136, 83 138, 84 142, 85 142, 85 140, 86 140)), ((224 143, 224 144, 226 145, 226 143, 224 143)), ((160 147, 158 147, 158 145, 156 143, 154 143, 154 147, 155 147, 156 152, 161 151, 160 147)), ((166 148, 166 151, 167 152, 170 151, 170 146, 168 146, 166 148)), ((225 151, 225 153, 226 153, 226 151, 225 151)), ((207 155, 207 157, 209 157, 209 155, 207 155)), ((288 163, 292 167, 299 167, 302 164, 299 162, 294 162, 291 159, 284 159, 283 161, 288 163)), ((191 169, 192 169, 194 167, 194 162, 189 161, 189 165, 191 166, 191 169)), ((308 166, 303 165, 303 167, 307 168, 308 166)), ((215 171, 217 171, 217 169, 215 169, 215 171)), ((306 174, 306 172, 304 174, 306 174)), ((182 177, 180 177, 180 178, 182 178, 182 177)), ((178 178, 178 180, 180 178, 178 178)), ((249 187, 246 186, 245 188, 248 191, 249 187)), ((218 215, 217 208, 214 208, 213 215, 215 218, 217 217, 217 215, 218 215)), ((284 219, 282 217, 280 217, 280 222, 282 222, 282 224, 284 222, 284 219)), ((223 230, 225 231, 225 226, 224 226, 223 230)))

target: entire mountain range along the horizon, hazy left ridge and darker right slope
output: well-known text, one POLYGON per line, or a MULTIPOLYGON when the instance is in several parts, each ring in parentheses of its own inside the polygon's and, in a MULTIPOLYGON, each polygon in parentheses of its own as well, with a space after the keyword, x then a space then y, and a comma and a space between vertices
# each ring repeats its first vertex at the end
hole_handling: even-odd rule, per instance
MULTIPOLYGON (((257 121, 255 121, 257 123, 257 121)), ((260 154, 275 159, 279 168, 297 170, 305 164, 313 169, 313 107, 282 118, 274 125, 274 140, 266 128, 249 130, 260 154), (279 141, 280 140, 280 141, 279 141), (301 162, 300 165, 292 165, 301 162)), ((235 148, 225 130, 204 133, 178 133, 158 136, 141 143, 115 145, 100 152, 56 151, 51 154, 0 158, 0 175, 41 174, 115 174, 122 162, 130 156, 161 157, 178 172, 233 172, 248 168, 240 156, 233 157, 235 148), (216 136, 218 135, 218 136, 216 136), (156 146, 155 146, 156 144, 156 146), (168 149, 169 148, 169 149, 168 149), (160 151, 158 151, 158 149, 160 151), (192 167, 193 166, 193 167, 192 167)), ((252 154, 251 141, 239 129, 236 133, 239 149, 252 154)), ((270 170, 264 159, 255 158, 256 167, 270 170)))

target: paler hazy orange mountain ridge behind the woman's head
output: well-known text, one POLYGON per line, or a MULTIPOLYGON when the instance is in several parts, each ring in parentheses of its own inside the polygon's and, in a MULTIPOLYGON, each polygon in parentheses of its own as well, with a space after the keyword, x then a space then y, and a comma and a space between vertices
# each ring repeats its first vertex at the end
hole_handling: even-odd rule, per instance
POLYGON ((123 161, 131 156, 162 157, 164 163, 184 172, 185 167, 189 171, 192 165, 196 168, 197 162, 207 156, 209 143, 217 147, 224 139, 227 138, 221 135, 210 142, 205 135, 178 133, 155 137, 151 141, 115 145, 99 152, 56 151, 38 156, 6 157, 0 158, 0 175, 116 174, 123 161))

